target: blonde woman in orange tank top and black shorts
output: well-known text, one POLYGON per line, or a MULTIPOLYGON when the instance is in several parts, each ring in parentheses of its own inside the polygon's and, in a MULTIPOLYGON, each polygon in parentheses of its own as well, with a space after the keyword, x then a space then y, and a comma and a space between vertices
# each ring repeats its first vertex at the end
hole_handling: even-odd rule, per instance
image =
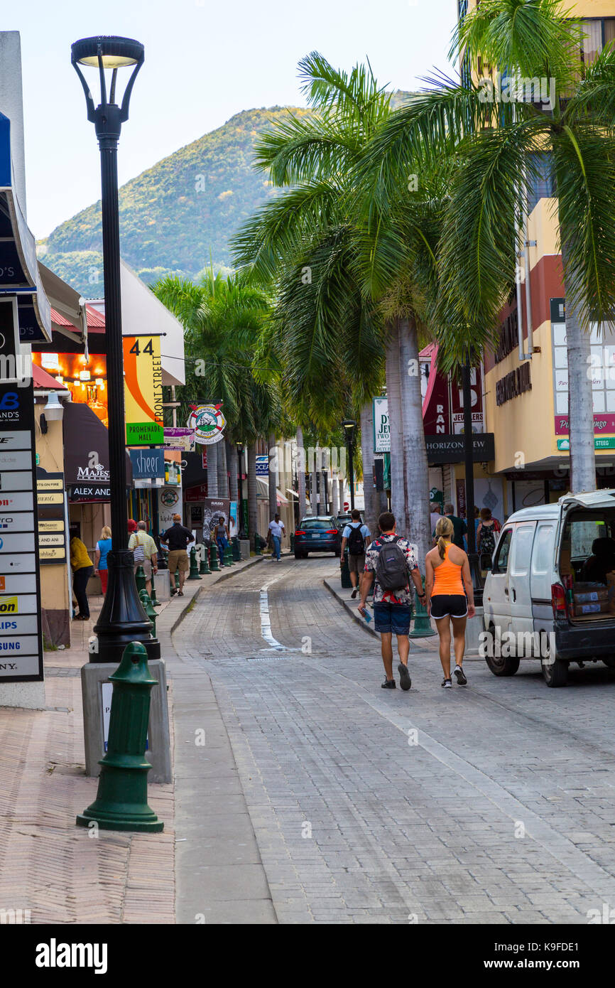
POLYGON ((455 678, 466 686, 463 653, 466 646, 466 620, 474 617, 474 588, 470 576, 468 555, 454 545, 453 523, 441 518, 435 526, 437 545, 425 556, 425 594, 427 614, 435 620, 440 639, 440 662, 444 679, 442 686, 452 687, 450 677, 450 629, 453 628, 455 678))

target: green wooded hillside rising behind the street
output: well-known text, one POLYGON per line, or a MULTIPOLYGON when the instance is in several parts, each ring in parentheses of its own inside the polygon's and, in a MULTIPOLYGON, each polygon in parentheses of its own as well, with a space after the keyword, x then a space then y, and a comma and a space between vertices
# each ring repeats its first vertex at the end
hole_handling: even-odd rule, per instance
MULTIPOLYGON (((410 94, 396 93, 399 104, 410 94)), ((119 190, 121 255, 151 284, 166 274, 195 278, 231 264, 228 241, 270 196, 252 167, 261 131, 301 108, 245 110, 181 148, 119 190)), ((103 294, 101 204, 57 226, 38 244, 41 260, 86 297, 103 294)))

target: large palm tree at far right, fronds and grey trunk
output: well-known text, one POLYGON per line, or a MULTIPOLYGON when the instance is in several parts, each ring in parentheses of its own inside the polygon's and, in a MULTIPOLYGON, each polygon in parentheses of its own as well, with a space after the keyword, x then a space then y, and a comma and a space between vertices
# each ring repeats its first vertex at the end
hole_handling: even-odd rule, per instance
MULTIPOLYGON (((573 490, 595 487, 591 322, 615 309, 615 51, 582 64, 578 24, 554 0, 483 0, 458 25, 451 53, 510 79, 552 80, 549 111, 522 98, 489 101, 485 81, 442 76, 391 115, 370 142, 362 178, 378 210, 399 197, 413 170, 452 162, 443 219, 434 325, 453 367, 493 347, 498 313, 514 283, 518 216, 544 155, 552 163, 566 282, 573 490), (438 319, 439 313, 439 319, 438 319)), ((517 94, 518 96, 518 94, 517 94)))

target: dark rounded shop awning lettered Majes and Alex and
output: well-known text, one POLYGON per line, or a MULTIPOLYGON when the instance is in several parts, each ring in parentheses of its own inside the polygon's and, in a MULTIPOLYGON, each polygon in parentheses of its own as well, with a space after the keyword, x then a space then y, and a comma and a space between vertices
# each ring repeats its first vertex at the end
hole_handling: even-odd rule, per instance
MULTIPOLYGON (((86 404, 64 405, 64 482, 70 500, 109 501, 109 433, 86 404), (88 496, 90 495, 90 496, 88 496)), ((126 481, 132 483, 130 456, 126 453, 126 481)))

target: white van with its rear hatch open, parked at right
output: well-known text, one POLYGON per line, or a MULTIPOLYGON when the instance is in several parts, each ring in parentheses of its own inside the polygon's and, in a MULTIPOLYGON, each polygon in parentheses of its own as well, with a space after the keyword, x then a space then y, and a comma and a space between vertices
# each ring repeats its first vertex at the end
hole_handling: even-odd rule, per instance
POLYGON ((547 686, 569 663, 615 669, 615 489, 567 494, 505 522, 485 582, 482 654, 496 676, 539 659, 547 686), (609 574, 609 575, 607 575, 609 574))

